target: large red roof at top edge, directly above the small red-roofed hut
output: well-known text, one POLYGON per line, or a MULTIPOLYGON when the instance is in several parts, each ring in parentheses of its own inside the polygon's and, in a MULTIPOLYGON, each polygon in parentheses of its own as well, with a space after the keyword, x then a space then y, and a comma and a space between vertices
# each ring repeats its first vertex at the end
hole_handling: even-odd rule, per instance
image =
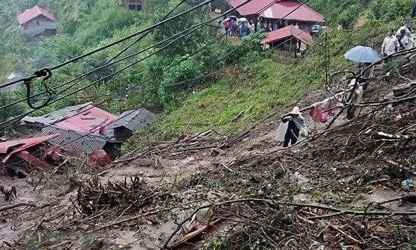
POLYGON ((315 10, 312 10, 306 5, 301 6, 302 3, 292 1, 279 1, 263 12, 260 13, 260 17, 272 18, 272 19, 287 19, 298 21, 311 21, 322 23, 325 21, 324 17, 315 10), (293 11, 291 13, 291 11, 293 11), (291 13, 291 14, 289 14, 291 13), (289 15, 288 15, 289 14, 289 15), (288 15, 287 17, 285 17, 288 15))

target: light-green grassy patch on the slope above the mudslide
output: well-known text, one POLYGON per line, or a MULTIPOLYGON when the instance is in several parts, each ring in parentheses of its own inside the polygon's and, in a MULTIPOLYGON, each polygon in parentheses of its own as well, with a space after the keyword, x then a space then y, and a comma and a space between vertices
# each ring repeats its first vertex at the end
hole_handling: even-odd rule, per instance
POLYGON ((191 93, 173 111, 159 117, 126 143, 127 150, 147 141, 195 134, 214 129, 216 132, 237 130, 272 109, 291 102, 311 86, 288 82, 288 65, 262 59, 250 65, 234 67, 235 73, 209 87, 191 93), (242 111, 243 114, 233 121, 242 111))

